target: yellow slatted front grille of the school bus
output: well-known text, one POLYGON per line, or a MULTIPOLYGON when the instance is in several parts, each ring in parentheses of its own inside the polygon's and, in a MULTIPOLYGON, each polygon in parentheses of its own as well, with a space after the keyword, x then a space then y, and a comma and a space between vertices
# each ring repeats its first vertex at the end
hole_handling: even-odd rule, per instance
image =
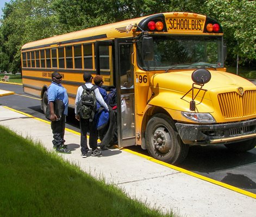
POLYGON ((256 114, 256 91, 218 94, 218 103, 224 118, 239 118, 256 114))

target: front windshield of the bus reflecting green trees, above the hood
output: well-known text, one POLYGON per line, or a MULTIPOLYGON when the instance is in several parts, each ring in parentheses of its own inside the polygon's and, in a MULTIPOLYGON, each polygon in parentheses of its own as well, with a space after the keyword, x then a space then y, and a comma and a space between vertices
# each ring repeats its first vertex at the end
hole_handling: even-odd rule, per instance
POLYGON ((137 44, 138 64, 147 71, 223 67, 221 36, 154 35, 152 61, 143 60, 142 42, 137 44))

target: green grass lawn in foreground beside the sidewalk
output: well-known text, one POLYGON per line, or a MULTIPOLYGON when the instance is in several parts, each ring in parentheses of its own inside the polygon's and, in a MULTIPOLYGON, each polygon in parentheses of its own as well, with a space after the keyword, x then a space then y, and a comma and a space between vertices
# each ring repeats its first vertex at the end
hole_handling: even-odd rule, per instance
POLYGON ((173 216, 1 125, 0 138, 0 216, 173 216))

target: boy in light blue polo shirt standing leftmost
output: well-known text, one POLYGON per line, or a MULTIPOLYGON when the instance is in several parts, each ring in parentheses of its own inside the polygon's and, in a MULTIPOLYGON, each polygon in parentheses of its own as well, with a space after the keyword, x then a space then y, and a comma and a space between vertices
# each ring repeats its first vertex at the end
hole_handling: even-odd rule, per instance
POLYGON ((53 132, 53 148, 57 152, 70 154, 71 151, 64 145, 65 122, 67 116, 68 97, 66 89, 60 84, 62 76, 58 72, 52 73, 52 84, 48 87, 48 104, 50 111, 51 127, 53 132), (65 109, 60 117, 54 113, 54 101, 60 99, 63 101, 65 109))

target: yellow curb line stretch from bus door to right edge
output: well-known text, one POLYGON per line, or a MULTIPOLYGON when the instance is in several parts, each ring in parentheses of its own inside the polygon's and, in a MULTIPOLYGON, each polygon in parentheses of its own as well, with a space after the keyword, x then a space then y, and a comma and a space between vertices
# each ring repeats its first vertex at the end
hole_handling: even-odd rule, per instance
POLYGON ((165 163, 163 161, 159 161, 158 159, 155 159, 153 157, 150 157, 150 156, 147 156, 147 155, 143 155, 143 154, 140 154, 138 152, 135 152, 135 151, 132 151, 132 150, 129 150, 129 149, 126 149, 126 148, 122 148, 122 150, 127 151, 127 152, 129 152, 131 154, 138 155, 140 157, 146 158, 149 161, 153 161, 155 163, 164 165, 165 167, 168 167, 168 168, 180 171, 181 173, 188 174, 188 175, 196 177, 196 178, 200 178, 201 180, 204 180, 204 181, 207 181, 207 182, 211 182, 213 184, 217 184, 218 186, 221 186, 221 187, 224 187, 224 188, 228 188, 230 190, 233 190, 234 192, 238 192, 240 194, 243 194, 243 195, 246 195, 246 196, 249 196, 249 197, 253 197, 254 199, 256 199, 256 194, 253 194, 252 192, 247 192, 246 190, 243 190, 243 189, 240 189, 240 188, 237 188, 237 187, 234 187, 234 186, 230 186, 230 184, 226 184, 226 183, 223 183, 223 182, 220 182, 220 181, 213 180, 212 178, 208 178, 208 177, 205 177, 205 176, 193 173, 193 172, 191 172, 189 170, 186 170, 186 169, 174 166, 172 164, 165 163))

